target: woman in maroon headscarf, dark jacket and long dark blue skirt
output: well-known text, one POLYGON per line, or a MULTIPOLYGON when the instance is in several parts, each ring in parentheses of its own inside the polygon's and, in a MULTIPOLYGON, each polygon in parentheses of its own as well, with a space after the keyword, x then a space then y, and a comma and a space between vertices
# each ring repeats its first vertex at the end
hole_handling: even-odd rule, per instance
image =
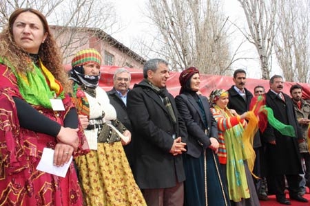
POLYGON ((179 77, 181 89, 176 107, 187 127, 185 168, 185 205, 230 205, 227 187, 218 162, 218 129, 209 102, 200 89, 199 71, 185 69, 179 77))

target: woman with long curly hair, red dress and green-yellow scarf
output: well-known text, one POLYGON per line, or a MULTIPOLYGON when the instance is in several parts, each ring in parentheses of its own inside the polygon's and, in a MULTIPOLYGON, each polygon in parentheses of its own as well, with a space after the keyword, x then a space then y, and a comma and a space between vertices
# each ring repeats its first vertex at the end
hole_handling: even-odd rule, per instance
POLYGON ((45 148, 58 167, 87 152, 70 91, 45 16, 15 10, 0 34, 0 205, 83 205, 73 163, 65 177, 37 170, 45 148))

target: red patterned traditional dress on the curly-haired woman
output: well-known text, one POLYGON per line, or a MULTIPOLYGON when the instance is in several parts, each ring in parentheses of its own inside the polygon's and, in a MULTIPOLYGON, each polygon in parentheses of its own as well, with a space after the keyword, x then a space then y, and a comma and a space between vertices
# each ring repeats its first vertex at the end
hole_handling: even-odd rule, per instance
MULTIPOLYGON (((43 74, 39 67, 36 69, 43 74)), ((48 78, 45 73, 43 76, 47 82, 53 79, 48 78)), ((51 83, 53 82, 48 82, 48 85, 51 83)), ((50 135, 21 128, 13 100, 13 97, 24 100, 19 86, 20 82, 12 69, 0 64, 0 205, 83 205, 73 163, 65 178, 36 170, 43 148, 53 149, 57 141, 50 135)), ((30 105, 63 125, 63 119, 73 107, 68 95, 63 98, 63 104, 65 111, 58 112, 30 105)), ((87 151, 82 146, 85 146, 82 131, 79 132, 80 145, 75 155, 87 151)))

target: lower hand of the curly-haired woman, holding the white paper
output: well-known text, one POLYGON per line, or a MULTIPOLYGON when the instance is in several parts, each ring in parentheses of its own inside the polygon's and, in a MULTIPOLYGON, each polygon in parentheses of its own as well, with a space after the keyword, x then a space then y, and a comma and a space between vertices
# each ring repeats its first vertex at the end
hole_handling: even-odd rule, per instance
POLYGON ((57 167, 63 166, 65 163, 68 163, 74 148, 68 144, 59 142, 54 148, 54 161, 53 164, 57 167))

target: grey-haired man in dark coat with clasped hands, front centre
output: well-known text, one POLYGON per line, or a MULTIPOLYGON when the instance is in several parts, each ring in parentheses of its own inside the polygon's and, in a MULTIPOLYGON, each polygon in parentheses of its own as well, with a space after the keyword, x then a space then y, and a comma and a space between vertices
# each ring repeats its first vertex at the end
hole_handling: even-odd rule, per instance
POLYGON ((187 130, 166 89, 167 62, 148 60, 143 77, 127 96, 136 157, 134 178, 147 205, 183 205, 182 153, 186 152, 187 130))

